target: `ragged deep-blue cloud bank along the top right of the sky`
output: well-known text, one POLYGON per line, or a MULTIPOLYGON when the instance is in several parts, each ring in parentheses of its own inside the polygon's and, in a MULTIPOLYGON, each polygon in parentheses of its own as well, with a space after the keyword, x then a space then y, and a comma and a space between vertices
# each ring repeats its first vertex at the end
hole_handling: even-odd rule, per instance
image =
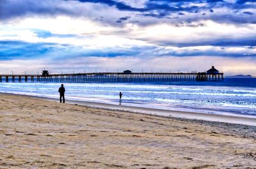
MULTIPOLYGON (((65 0, 68 1, 68 0, 65 0)), ((215 22, 221 23, 237 23, 237 24, 255 24, 256 18, 250 17, 253 15, 250 11, 244 11, 244 15, 248 17, 241 17, 239 11, 246 10, 247 8, 256 8, 255 4, 246 4, 247 2, 255 1, 236 1, 235 3, 228 3, 227 1, 222 0, 184 0, 184 1, 170 1, 170 0, 149 0, 146 1, 143 8, 134 8, 120 1, 96 1, 96 0, 79 0, 81 3, 99 3, 106 4, 108 6, 115 6, 120 11, 135 11, 138 12, 138 16, 142 17, 153 17, 153 18, 167 18, 170 19, 170 22, 173 18, 173 22, 182 22, 182 21, 198 21, 202 19, 214 20, 215 22), (193 3, 193 5, 189 5, 193 3), (201 4, 204 3, 202 6, 201 4), (185 7, 184 7, 185 6, 185 7), (223 13, 214 14, 214 10, 221 10, 221 8, 227 8, 230 11, 225 11, 223 13), (198 13, 198 17, 193 15, 189 17, 185 13, 198 13), (183 18, 182 15, 186 17, 183 18), (180 17, 170 17, 172 15, 179 15, 180 17), (204 17, 200 17, 200 15, 204 17)), ((131 18, 131 20, 134 18, 131 18)), ((118 20, 117 22, 122 22, 118 20)), ((143 25, 143 22, 140 22, 143 25)), ((145 24, 147 25, 147 24, 145 24)))

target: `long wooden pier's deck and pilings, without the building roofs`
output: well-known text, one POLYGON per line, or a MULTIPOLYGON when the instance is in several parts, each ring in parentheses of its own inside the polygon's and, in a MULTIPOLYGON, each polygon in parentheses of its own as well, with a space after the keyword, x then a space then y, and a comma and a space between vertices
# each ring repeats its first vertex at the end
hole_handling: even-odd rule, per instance
POLYGON ((71 73, 51 75, 0 75, 0 82, 202 82, 222 81, 223 73, 71 73))

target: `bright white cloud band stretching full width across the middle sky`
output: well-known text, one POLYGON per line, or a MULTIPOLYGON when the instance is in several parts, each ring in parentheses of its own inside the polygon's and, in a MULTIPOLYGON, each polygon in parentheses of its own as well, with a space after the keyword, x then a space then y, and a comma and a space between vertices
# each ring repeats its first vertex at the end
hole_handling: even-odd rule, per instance
POLYGON ((81 18, 27 18, 17 24, 0 25, 0 40, 56 43, 86 48, 106 47, 244 47, 253 46, 256 25, 218 24, 211 20, 140 26, 119 17, 122 27, 104 26, 81 18), (109 43, 111 40, 111 43, 109 43))

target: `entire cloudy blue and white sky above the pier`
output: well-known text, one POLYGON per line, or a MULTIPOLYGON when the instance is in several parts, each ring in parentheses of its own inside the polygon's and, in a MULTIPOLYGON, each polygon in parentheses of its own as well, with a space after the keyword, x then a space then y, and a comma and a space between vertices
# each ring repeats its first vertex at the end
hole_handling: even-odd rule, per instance
POLYGON ((255 0, 0 0, 0 74, 256 76, 255 0))

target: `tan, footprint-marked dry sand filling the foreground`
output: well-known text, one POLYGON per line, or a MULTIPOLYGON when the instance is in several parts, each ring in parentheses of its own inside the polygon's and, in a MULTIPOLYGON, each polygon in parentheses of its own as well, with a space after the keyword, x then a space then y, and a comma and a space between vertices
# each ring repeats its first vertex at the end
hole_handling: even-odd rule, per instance
POLYGON ((256 168, 256 128, 0 94, 0 168, 256 168))

